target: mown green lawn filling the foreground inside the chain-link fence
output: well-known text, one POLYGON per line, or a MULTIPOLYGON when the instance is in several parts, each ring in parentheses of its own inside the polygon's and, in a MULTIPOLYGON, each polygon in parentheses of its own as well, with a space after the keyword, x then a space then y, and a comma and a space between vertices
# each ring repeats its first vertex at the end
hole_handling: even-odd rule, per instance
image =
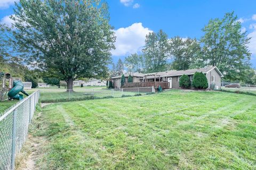
POLYGON ((46 139, 36 167, 255 169, 255 101, 171 90, 47 105, 30 129, 35 140, 46 139))

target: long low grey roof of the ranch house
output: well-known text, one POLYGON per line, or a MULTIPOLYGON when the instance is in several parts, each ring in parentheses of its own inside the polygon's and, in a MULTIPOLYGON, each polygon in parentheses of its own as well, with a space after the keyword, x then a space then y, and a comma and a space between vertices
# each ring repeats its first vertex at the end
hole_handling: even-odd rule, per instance
MULTIPOLYGON (((221 72, 219 71, 219 69, 216 66, 207 66, 207 67, 203 67, 203 68, 189 69, 189 70, 171 70, 171 71, 147 73, 147 74, 131 73, 131 76, 146 77, 147 79, 154 79, 155 77, 156 78, 157 77, 169 77, 169 76, 174 77, 174 76, 180 76, 180 75, 183 75, 183 74, 193 75, 196 72, 209 73, 213 69, 215 69, 220 74, 220 77, 223 77, 223 75, 221 74, 221 72)), ((130 74, 125 74, 124 76, 129 77, 129 75, 130 74)), ((121 75, 117 76, 117 77, 113 77, 112 79, 117 79, 117 78, 121 78, 121 75)))

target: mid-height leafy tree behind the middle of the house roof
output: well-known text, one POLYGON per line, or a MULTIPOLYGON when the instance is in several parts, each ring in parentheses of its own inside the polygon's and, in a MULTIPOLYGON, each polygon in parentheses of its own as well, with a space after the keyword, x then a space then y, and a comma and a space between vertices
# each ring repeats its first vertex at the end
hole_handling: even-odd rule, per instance
POLYGON ((201 52, 199 42, 191 38, 173 37, 170 39, 170 46, 173 58, 171 66, 174 70, 189 69, 201 52))

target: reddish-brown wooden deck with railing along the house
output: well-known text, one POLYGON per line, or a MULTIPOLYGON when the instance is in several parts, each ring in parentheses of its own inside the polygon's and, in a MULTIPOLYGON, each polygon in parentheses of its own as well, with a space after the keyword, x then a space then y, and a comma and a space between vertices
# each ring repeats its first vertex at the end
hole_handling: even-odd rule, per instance
POLYGON ((158 88, 161 86, 163 89, 169 89, 169 82, 136 82, 136 83, 124 83, 123 88, 134 88, 134 87, 152 87, 158 88))

